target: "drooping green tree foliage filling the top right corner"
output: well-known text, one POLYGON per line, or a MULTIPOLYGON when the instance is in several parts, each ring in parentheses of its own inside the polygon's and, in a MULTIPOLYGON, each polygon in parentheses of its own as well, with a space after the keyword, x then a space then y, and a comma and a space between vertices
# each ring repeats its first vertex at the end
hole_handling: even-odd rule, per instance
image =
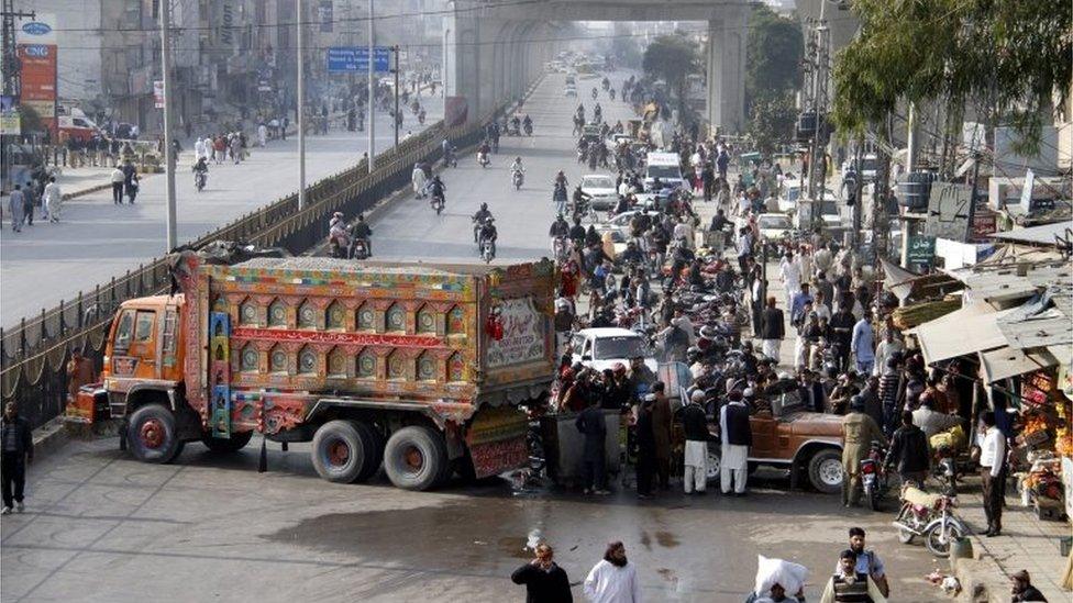
POLYGON ((1036 149, 1052 103, 1069 94, 1069 0, 854 0, 853 11, 860 33, 834 62, 832 120, 843 134, 899 103, 972 103, 1036 149))

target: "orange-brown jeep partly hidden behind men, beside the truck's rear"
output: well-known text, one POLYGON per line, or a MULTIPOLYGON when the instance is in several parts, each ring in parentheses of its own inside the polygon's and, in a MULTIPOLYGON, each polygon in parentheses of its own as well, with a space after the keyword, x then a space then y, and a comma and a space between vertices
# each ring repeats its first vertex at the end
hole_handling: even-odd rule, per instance
MULTIPOLYGON (((804 477, 816 490, 836 494, 842 490, 842 416, 806 409, 793 379, 783 379, 765 390, 767 402, 750 409, 753 444, 749 447, 749 470, 770 466, 790 470, 792 487, 804 477), (770 409, 767 407, 770 405, 770 409)), ((718 411, 709 409, 708 482, 719 480, 721 447, 718 411)), ((681 413, 675 413, 675 439, 681 433, 681 413)))

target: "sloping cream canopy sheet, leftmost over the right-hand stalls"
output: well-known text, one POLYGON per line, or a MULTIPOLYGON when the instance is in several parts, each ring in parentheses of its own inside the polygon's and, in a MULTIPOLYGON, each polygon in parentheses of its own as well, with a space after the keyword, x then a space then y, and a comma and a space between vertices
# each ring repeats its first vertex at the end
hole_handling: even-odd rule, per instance
POLYGON ((998 328, 998 319, 1014 310, 996 312, 986 302, 976 302, 910 328, 907 333, 916 335, 923 359, 930 365, 966 354, 1006 347, 1008 342, 998 328))

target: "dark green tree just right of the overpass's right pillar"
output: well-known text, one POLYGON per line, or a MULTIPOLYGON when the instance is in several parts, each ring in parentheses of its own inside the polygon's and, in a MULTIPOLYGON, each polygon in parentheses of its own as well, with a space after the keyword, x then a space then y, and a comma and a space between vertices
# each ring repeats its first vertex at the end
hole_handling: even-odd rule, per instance
POLYGON ((745 113, 755 101, 782 99, 801 83, 805 38, 800 22, 757 4, 745 45, 745 113))

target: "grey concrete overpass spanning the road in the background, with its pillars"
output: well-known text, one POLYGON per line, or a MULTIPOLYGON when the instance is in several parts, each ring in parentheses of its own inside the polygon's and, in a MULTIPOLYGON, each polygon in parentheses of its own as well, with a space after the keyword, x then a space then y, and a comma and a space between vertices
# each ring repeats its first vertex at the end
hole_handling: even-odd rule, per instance
POLYGON ((443 32, 449 119, 479 119, 517 98, 562 48, 572 21, 698 21, 708 24, 707 119, 744 126, 750 0, 453 0, 443 32), (452 115, 452 113, 454 115, 452 115))

